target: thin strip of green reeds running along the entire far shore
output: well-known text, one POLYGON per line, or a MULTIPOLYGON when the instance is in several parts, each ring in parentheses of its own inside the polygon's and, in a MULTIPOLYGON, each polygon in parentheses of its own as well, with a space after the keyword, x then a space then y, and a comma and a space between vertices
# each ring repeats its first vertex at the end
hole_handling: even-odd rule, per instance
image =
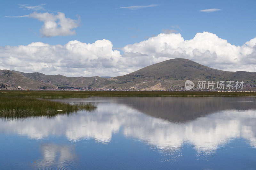
POLYGON ((0 91, 0 96, 28 98, 88 98, 106 97, 202 97, 202 96, 256 96, 255 92, 163 92, 163 91, 0 91))

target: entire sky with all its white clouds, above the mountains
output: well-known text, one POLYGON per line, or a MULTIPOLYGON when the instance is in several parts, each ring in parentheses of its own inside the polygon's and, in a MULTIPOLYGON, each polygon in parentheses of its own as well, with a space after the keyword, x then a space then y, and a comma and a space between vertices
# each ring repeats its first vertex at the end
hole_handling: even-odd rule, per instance
POLYGON ((120 76, 172 58, 256 72, 256 1, 4 1, 0 69, 120 76))

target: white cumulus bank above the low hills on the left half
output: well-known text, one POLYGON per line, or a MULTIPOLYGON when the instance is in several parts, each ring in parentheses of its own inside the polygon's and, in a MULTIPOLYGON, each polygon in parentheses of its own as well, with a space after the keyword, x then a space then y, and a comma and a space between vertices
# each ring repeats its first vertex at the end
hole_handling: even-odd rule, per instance
POLYGON ((92 44, 69 41, 65 45, 32 42, 27 46, 4 46, 0 47, 0 69, 67 76, 126 73, 124 67, 117 66, 120 52, 112 47, 111 41, 105 39, 92 44))

